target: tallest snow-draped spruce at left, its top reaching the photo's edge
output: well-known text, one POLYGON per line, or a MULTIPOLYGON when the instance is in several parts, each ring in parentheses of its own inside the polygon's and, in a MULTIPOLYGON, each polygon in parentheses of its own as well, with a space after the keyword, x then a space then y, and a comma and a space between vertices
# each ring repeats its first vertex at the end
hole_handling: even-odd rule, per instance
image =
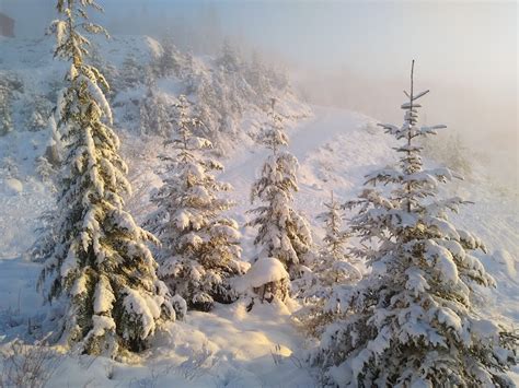
POLYGON ((55 56, 70 61, 58 101, 59 131, 67 144, 58 198, 59 213, 39 252, 41 286, 65 307, 64 344, 83 353, 116 356, 147 346, 162 320, 175 318, 173 299, 157 274, 146 243, 155 242, 124 210, 130 190, 103 75, 84 61, 89 42, 79 32, 105 33, 91 23, 93 0, 58 0, 62 19, 55 56))

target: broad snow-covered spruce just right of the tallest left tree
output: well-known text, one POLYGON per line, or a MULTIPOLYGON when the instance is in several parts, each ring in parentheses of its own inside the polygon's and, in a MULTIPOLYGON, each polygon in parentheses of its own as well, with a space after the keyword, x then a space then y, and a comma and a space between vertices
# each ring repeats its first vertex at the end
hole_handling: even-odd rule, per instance
POLYGON ((230 190, 212 172, 222 165, 204 157, 211 143, 193 134, 201 125, 185 98, 178 99, 172 156, 163 186, 153 193, 158 207, 148 225, 161 238, 160 275, 172 292, 182 295, 189 308, 209 310, 215 302, 230 303, 237 295, 229 279, 244 272, 240 233, 234 220, 221 212, 232 203, 218 196, 230 190))

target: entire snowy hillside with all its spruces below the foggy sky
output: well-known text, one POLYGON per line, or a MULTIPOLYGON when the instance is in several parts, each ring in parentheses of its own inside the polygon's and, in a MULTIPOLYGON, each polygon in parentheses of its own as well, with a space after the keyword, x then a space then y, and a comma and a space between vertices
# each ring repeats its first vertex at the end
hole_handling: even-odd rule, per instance
POLYGON ((55 2, 0 39, 0 387, 517 385, 517 191, 419 60, 388 124, 55 2))

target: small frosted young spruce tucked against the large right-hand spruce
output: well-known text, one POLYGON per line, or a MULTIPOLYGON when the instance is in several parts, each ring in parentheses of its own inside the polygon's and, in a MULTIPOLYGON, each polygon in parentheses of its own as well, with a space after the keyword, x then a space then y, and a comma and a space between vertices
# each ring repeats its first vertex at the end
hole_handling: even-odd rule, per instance
POLYGON ((325 236, 321 251, 310 266, 312 272, 301 279, 310 284, 300 287, 302 307, 296 313, 304 331, 312 336, 321 334, 323 328, 341 315, 335 292, 362 278, 358 260, 346 254, 349 235, 342 228, 341 203, 333 191, 330 202, 324 205, 326 211, 318 217, 324 223, 325 236))

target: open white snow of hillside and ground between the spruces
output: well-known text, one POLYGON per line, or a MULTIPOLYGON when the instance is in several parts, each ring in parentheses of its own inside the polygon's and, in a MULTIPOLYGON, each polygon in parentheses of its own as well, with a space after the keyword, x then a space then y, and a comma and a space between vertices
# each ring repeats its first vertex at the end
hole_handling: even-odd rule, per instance
MULTIPOLYGON (((26 255, 36 239, 36 230, 45 227, 41 215, 46 211, 59 211, 53 209, 51 181, 38 173, 38 157, 46 152, 51 133, 27 125, 26 106, 39 97, 53 102, 65 66, 51 60, 53 45, 48 39, 1 40, 0 50, 0 71, 9 73, 10 80, 18 85, 12 97, 14 128, 0 137, 0 351, 7 352, 9 342, 15 338, 38 339, 51 317, 53 307, 43 305, 43 297, 35 290, 41 264, 26 255)), ((143 64, 159 57, 163 48, 150 38, 115 37, 109 45, 100 43, 97 50, 106 60, 105 69, 111 66, 123 69, 129 54, 143 64)), ((185 60, 187 57, 178 55, 178 58, 185 60)), ((191 64, 191 70, 195 69, 203 80, 207 78, 206 81, 212 82, 218 69, 214 59, 192 60, 195 64, 191 64)), ((113 77, 119 89, 112 95, 112 101, 123 156, 129 164, 134 187, 127 204, 136 220, 143 222, 153 208, 150 193, 161 185, 158 156, 165 150, 163 137, 142 133, 140 125, 135 122, 135 115, 140 114, 137 107, 141 107, 150 85, 124 85, 128 80, 122 81, 116 73, 114 71, 113 77)), ((187 93, 189 77, 184 75, 158 77, 153 83, 158 94, 152 97, 159 96, 168 105, 178 94, 187 93)), ((323 231, 315 217, 323 211, 330 191, 333 189, 342 201, 355 198, 368 172, 396 163, 392 149, 395 143, 383 134, 372 118, 320 106, 310 109, 289 90, 275 92, 289 127, 289 150, 300 163, 296 208, 308 216, 319 242, 323 231)), ((219 155, 226 167, 219 178, 233 186, 229 197, 237 205, 229 213, 239 222, 243 234, 243 258, 251 261, 256 255, 255 231, 244 225, 251 216, 246 213, 252 208, 251 185, 267 155, 267 151, 254 143, 256 130, 266 116, 263 103, 253 104, 244 96, 239 98, 239 110, 229 110, 233 113, 228 117, 233 122, 226 121, 230 131, 223 131, 224 136, 218 138, 223 142, 229 140, 232 145, 219 155)), ((199 95, 193 92, 191 97, 197 101, 199 95)), ((46 103, 42 104, 45 111, 46 103)), ((216 113, 210 109, 212 117, 216 113)), ((427 164, 437 162, 427 161, 427 164)), ((447 193, 462 195, 475 202, 462 209, 453 220, 474 231, 486 243, 488 254, 481 254, 480 258, 497 281, 495 290, 480 291, 478 311, 485 316, 503 315, 517 327, 517 197, 493 188, 478 166, 471 179, 447 190, 447 193)), ((356 243, 351 240, 351 244, 356 243)), ((245 302, 239 301, 231 305, 217 304, 210 313, 189 311, 184 320, 169 324, 153 339, 150 350, 128 360, 127 364, 101 356, 58 355, 53 361, 54 373, 48 386, 313 387, 319 372, 308 368, 303 362, 305 350, 313 343, 302 334, 291 316, 298 307, 297 302, 289 301, 286 305, 258 305, 247 311, 245 302)))

